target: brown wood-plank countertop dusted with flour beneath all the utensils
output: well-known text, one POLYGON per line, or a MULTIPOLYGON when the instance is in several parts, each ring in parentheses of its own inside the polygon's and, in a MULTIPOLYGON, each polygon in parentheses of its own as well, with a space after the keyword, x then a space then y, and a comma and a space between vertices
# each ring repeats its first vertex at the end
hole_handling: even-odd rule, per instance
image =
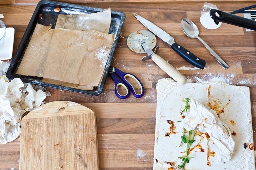
MULTIPOLYGON (((204 70, 182 70, 186 77, 196 82, 198 78, 222 79, 234 85, 246 85, 251 91, 252 123, 256 129, 256 32, 246 32, 244 28, 223 23, 217 30, 207 30, 199 22, 204 0, 118 0, 96 1, 64 0, 98 8, 111 7, 126 15, 122 35, 114 54, 112 66, 135 74, 140 78, 145 94, 142 98, 132 95, 126 100, 115 96, 114 84, 108 77, 100 96, 47 88, 52 94, 47 101, 68 100, 81 103, 96 113, 98 128, 99 165, 104 170, 152 169, 154 157, 155 108, 157 94, 155 85, 167 75, 153 61, 141 59, 143 54, 130 51, 126 45, 127 36, 138 29, 146 29, 131 14, 138 13, 166 30, 175 41, 198 57, 207 61, 204 70), (204 39, 229 65, 224 70, 198 39, 188 38, 181 29, 181 19, 189 18, 199 27, 199 36, 204 39)), ((212 0, 211 0, 212 1, 212 0)), ((211 1, 207 1, 210 3, 211 1)), ((1 0, 0 13, 7 27, 15 28, 14 53, 30 21, 38 0, 1 0)), ((214 0, 217 7, 226 12, 253 5, 246 0, 214 0)), ((239 14, 243 16, 242 14, 239 14)), ((162 40, 158 54, 174 67, 191 67, 162 40)), ((255 131, 253 131, 256 135, 255 131)), ((256 140, 255 140, 256 141, 256 140)), ((0 144, 0 170, 19 168, 20 139, 8 144, 0 144)), ((65 169, 65 166, 64 166, 65 169)))

